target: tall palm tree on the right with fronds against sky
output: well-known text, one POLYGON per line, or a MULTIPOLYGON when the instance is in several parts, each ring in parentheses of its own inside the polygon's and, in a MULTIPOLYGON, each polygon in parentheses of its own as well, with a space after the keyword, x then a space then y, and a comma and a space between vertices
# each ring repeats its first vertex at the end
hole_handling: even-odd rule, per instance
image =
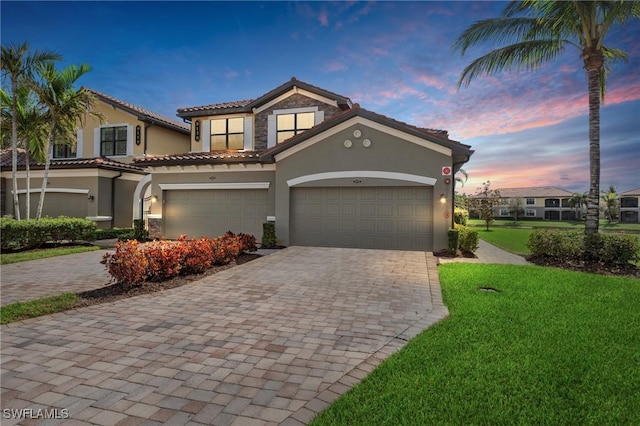
POLYGON ((506 44, 474 60, 462 72, 458 87, 479 75, 494 75, 516 68, 535 70, 557 58, 566 47, 574 47, 587 73, 589 94, 589 173, 585 233, 598 233, 600 195, 600 101, 611 64, 626 59, 621 50, 606 47, 604 39, 616 24, 631 16, 640 18, 640 2, 551 1, 511 2, 499 18, 479 21, 454 42, 461 53, 487 41, 506 44))

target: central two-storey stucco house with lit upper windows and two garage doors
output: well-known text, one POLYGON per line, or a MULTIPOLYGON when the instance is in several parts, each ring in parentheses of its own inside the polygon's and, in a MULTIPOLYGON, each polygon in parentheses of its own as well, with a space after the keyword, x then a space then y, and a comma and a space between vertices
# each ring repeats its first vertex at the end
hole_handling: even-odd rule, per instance
MULTIPOLYGON (((295 78, 257 99, 182 108, 191 146, 134 159, 153 236, 254 234, 282 245, 439 250, 453 174, 473 153, 295 78)), ((134 204, 136 204, 134 202, 134 204)), ((134 217, 143 217, 135 209, 134 217)))

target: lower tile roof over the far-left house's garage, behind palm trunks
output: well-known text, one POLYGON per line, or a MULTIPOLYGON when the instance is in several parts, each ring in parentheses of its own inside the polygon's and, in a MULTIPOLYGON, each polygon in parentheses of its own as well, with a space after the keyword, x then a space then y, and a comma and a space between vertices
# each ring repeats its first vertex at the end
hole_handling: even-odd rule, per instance
MULTIPOLYGON (((11 148, 0 151, 0 167, 3 170, 11 168, 11 148)), ((24 169, 26 165, 26 151, 18 148, 18 168, 24 169)), ((43 169, 44 164, 37 163, 33 158, 29 158, 29 166, 32 169, 43 169)), ((100 168, 117 170, 131 173, 145 173, 140 167, 133 164, 122 163, 120 161, 111 160, 106 157, 95 158, 60 158, 51 160, 52 169, 81 169, 81 168, 100 168)))

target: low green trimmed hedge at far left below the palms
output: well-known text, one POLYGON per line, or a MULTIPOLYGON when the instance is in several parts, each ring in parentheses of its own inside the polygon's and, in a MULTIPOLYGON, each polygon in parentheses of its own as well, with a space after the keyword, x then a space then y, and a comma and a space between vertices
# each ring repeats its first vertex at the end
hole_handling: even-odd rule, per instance
POLYGON ((4 250, 30 250, 47 242, 93 241, 96 224, 87 219, 60 216, 40 220, 0 219, 0 247, 4 250))

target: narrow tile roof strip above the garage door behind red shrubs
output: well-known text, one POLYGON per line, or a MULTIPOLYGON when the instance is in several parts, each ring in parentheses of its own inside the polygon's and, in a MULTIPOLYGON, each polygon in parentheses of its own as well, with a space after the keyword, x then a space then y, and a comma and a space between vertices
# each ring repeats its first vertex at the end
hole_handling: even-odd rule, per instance
POLYGON ((211 151, 190 152, 186 154, 153 155, 145 158, 135 158, 133 161, 141 167, 146 167, 203 163, 257 163, 260 162, 260 158, 257 151, 211 151))

